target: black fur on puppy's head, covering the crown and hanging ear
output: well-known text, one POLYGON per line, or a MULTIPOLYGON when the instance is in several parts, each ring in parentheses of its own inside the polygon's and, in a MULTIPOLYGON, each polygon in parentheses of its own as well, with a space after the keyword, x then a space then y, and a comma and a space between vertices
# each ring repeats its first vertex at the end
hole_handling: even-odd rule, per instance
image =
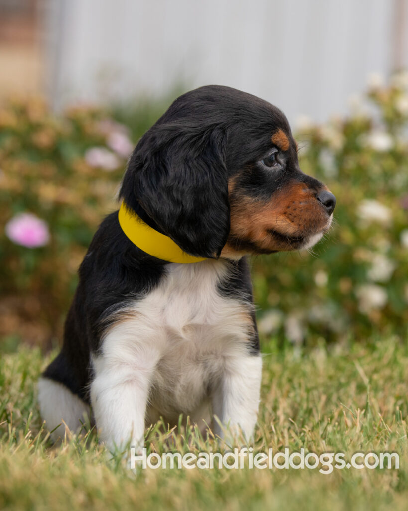
POLYGON ((270 146, 272 126, 290 130, 280 110, 245 92, 187 92, 142 136, 120 197, 185 251, 218 258, 230 231, 227 179, 270 146))

